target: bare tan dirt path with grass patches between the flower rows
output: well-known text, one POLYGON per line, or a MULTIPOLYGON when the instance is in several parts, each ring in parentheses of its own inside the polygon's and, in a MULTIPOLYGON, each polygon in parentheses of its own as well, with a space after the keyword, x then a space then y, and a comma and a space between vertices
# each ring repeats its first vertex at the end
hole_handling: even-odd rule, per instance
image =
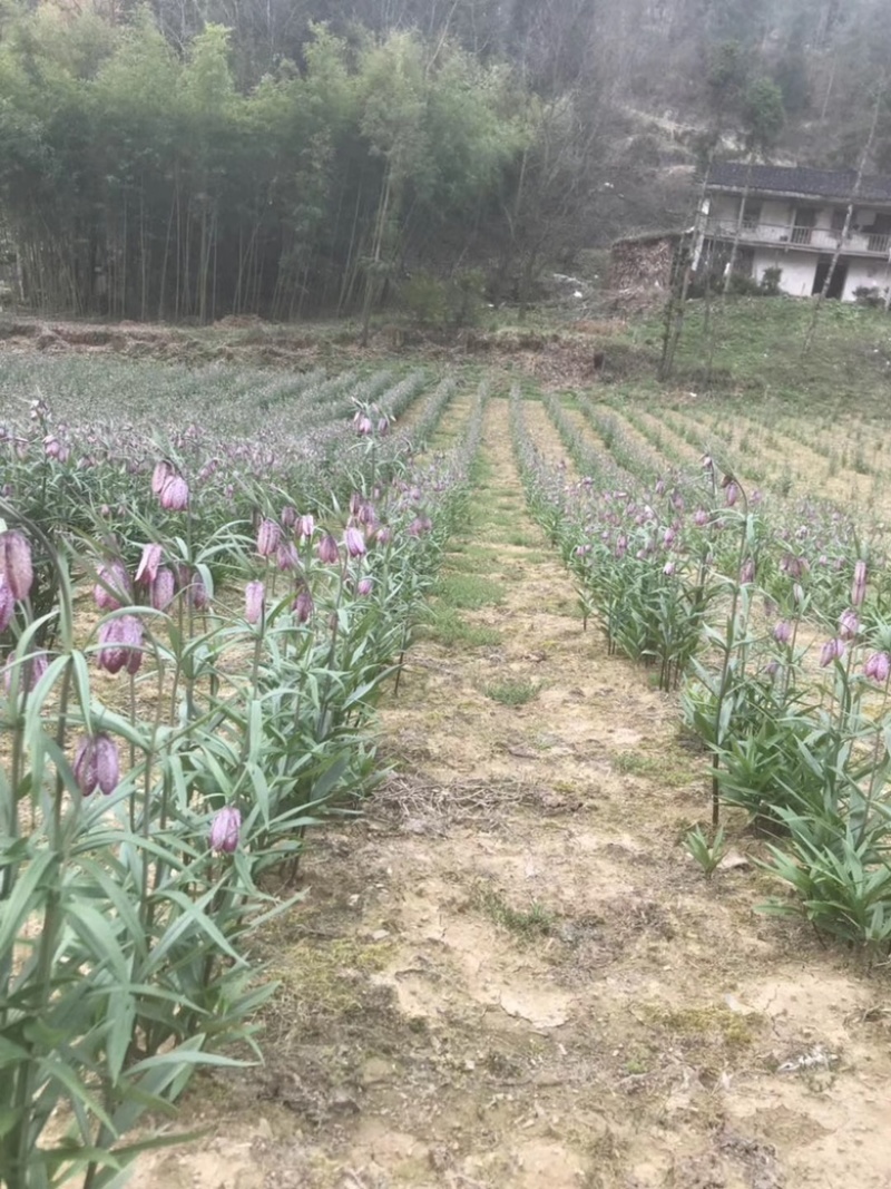
POLYGON ((687 856, 702 760, 582 630, 501 400, 442 590, 461 631, 381 712, 391 776, 258 938, 265 1068, 196 1081, 207 1134, 133 1185, 889 1189, 886 971, 757 911, 739 820, 712 881, 687 856))

